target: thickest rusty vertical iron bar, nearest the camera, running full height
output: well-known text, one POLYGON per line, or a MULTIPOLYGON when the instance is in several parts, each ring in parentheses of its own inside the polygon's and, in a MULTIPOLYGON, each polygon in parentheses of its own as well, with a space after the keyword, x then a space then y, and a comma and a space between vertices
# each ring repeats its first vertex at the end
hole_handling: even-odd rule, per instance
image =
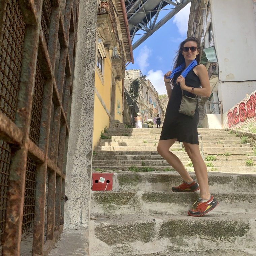
POLYGON ((27 4, 30 8, 22 8, 23 18, 26 23, 26 33, 22 59, 23 66, 20 76, 21 86, 17 102, 18 110, 15 118, 15 124, 22 131, 23 141, 20 149, 13 149, 12 151, 8 201, 6 207, 6 227, 2 247, 2 255, 4 256, 20 255, 25 174, 28 152, 28 131, 30 127, 32 92, 35 81, 36 58, 40 31, 38 21, 40 21, 41 17, 41 8, 37 9, 36 12, 34 10, 34 4, 31 3, 31 1, 27 1, 27 4), (32 19, 35 13, 37 18, 36 20, 32 19), (34 24, 31 24, 31 22, 34 22, 34 24))

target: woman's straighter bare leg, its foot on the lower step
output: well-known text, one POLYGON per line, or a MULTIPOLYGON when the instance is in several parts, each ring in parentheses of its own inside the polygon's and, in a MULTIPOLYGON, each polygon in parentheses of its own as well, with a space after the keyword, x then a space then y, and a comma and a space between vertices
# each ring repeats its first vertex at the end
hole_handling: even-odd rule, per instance
POLYGON ((202 156, 199 151, 199 146, 197 144, 191 144, 183 142, 185 150, 189 158, 192 161, 197 182, 200 187, 200 197, 205 200, 209 200, 210 198, 210 191, 209 191, 209 184, 208 184, 208 173, 207 167, 202 159, 202 156))

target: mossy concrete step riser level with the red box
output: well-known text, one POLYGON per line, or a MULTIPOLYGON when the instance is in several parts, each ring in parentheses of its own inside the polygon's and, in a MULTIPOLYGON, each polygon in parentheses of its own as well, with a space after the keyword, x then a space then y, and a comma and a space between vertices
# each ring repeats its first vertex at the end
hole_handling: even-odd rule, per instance
MULTIPOLYGON (((195 173, 190 174, 196 180, 195 173)), ((256 191, 256 172, 252 174, 227 174, 209 172, 211 193, 256 191)), ((168 192, 182 183, 178 172, 120 172, 114 173, 113 191, 168 192)))

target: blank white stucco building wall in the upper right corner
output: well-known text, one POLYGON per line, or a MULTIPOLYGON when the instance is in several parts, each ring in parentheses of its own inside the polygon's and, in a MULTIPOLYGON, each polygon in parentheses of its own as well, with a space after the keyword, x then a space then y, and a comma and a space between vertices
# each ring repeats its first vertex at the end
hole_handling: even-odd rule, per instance
POLYGON ((211 11, 220 80, 256 80, 253 1, 214 0, 211 11))

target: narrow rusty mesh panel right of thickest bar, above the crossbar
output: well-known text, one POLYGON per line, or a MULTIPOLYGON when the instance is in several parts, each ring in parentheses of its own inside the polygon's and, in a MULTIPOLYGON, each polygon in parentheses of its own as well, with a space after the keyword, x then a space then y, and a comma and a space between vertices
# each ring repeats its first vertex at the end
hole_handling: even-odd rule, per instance
POLYGON ((31 113, 31 123, 30 123, 30 139, 38 145, 39 134, 40 134, 40 123, 42 115, 42 101, 43 101, 43 84, 44 77, 41 70, 40 64, 36 62, 36 78, 34 87, 34 96, 32 104, 31 113))

